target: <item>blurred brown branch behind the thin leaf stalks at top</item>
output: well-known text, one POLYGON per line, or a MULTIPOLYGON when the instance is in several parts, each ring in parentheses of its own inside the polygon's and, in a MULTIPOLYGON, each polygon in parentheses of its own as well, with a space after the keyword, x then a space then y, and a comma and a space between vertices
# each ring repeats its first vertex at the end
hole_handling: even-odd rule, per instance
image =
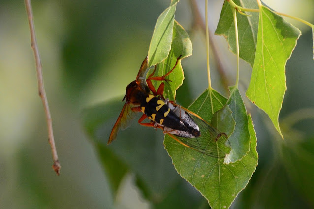
MULTIPOLYGON (((201 14, 199 12, 197 3, 195 0, 189 0, 191 9, 192 9, 192 14, 193 14, 193 27, 200 27, 201 30, 204 32, 205 35, 205 31, 206 31, 206 26, 204 23, 204 19, 201 17, 201 14)), ((223 64, 222 61, 220 60, 220 56, 218 55, 218 51, 216 49, 216 45, 213 41, 213 37, 211 35, 212 33, 209 32, 208 36, 209 36, 209 45, 210 45, 210 50, 212 51, 213 55, 214 55, 214 60, 218 69, 218 72, 220 73, 221 76, 221 82, 223 84, 223 87, 225 88, 225 90, 228 92, 228 86, 229 86, 229 80, 228 77, 226 75, 225 70, 223 69, 223 64)))

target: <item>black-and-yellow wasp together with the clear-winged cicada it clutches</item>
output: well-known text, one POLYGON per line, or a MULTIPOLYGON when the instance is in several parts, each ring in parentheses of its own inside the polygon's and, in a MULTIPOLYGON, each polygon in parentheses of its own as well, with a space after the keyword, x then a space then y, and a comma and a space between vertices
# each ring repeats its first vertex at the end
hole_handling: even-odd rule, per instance
POLYGON ((134 113, 142 112, 138 123, 143 126, 160 128, 180 144, 216 158, 225 157, 229 148, 228 137, 221 133, 197 114, 163 97, 164 82, 156 90, 152 80, 170 81, 166 77, 175 69, 181 56, 173 68, 163 76, 155 76, 153 72, 145 78, 148 69, 148 58, 143 61, 135 81, 126 87, 126 100, 122 111, 113 126, 108 144, 117 136, 118 130, 126 129, 134 113), (143 123, 144 119, 150 122, 143 123))

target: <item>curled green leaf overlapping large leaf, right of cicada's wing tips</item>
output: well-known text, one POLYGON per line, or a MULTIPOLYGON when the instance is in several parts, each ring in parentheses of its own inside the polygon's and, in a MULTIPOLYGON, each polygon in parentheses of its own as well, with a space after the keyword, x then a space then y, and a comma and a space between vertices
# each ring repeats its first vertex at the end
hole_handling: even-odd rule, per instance
POLYGON ((227 101, 236 122, 235 130, 230 136, 232 150, 226 157, 226 162, 236 162, 250 150, 250 133, 248 130, 247 110, 242 100, 240 91, 236 86, 230 87, 230 97, 227 101))

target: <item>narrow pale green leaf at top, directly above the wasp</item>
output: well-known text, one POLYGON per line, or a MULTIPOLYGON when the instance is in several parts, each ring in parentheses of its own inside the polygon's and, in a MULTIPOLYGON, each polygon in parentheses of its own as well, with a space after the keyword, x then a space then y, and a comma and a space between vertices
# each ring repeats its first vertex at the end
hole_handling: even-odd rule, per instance
POLYGON ((157 19, 148 50, 148 66, 160 63, 169 54, 177 2, 178 0, 172 1, 157 19))

